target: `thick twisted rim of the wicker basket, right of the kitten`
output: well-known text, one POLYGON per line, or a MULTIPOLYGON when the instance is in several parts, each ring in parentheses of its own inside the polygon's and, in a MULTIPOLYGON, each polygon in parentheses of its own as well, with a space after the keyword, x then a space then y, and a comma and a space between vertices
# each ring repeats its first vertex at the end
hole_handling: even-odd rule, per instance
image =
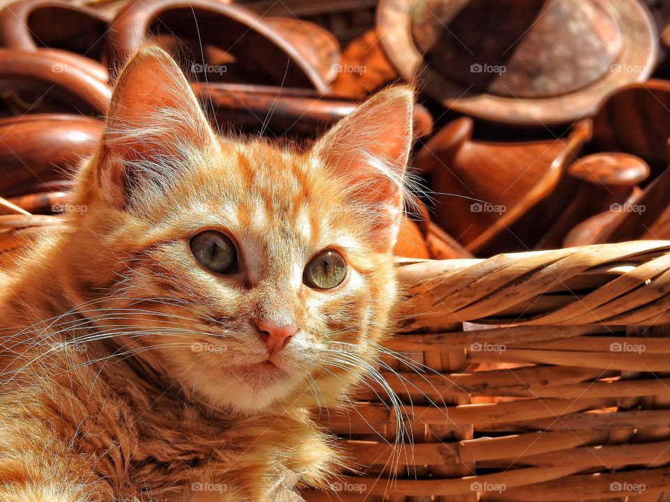
POLYGON ((636 241, 482 260, 401 262, 408 301, 400 307, 400 330, 462 321, 664 324, 669 251, 666 241, 636 241))

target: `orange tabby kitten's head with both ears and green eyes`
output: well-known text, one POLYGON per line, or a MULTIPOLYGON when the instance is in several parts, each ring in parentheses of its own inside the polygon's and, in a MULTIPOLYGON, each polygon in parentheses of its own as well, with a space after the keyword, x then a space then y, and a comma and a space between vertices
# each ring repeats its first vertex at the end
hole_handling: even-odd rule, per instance
POLYGON ((411 126, 412 93, 393 88, 306 152, 220 138, 144 47, 77 178, 68 294, 195 399, 332 404, 389 326, 411 126))

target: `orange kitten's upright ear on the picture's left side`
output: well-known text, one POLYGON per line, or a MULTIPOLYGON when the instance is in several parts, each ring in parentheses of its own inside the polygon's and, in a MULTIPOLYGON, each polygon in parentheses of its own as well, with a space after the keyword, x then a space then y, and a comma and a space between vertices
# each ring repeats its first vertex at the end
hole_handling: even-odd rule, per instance
POLYGON ((96 183, 115 206, 165 190, 198 151, 216 144, 181 68, 158 47, 140 47, 112 92, 96 183))

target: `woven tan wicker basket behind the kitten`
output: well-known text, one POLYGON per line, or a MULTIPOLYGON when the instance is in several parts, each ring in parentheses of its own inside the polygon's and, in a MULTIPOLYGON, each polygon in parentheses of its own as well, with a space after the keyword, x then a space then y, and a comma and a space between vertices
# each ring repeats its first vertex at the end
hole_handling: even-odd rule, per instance
MULTIPOLYGON (((0 216, 0 250, 57 221, 0 216)), ((398 266, 404 405, 322 413, 360 468, 308 501, 668 500, 670 242, 398 266)))

